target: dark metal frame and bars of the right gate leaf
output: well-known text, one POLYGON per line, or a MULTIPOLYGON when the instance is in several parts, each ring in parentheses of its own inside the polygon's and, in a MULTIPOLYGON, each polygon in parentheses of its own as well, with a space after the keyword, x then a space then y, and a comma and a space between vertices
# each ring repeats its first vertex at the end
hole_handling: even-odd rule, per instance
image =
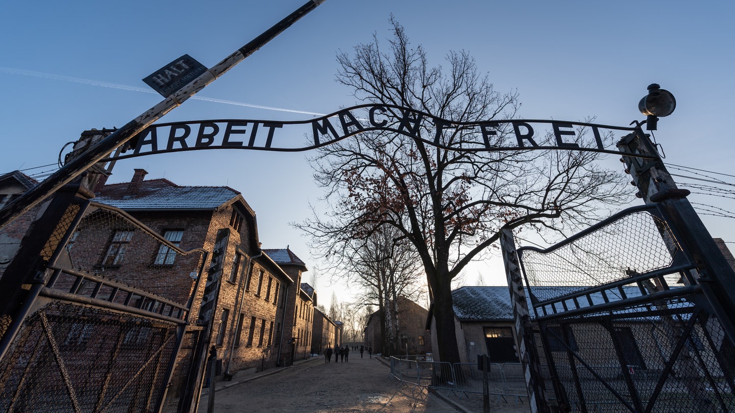
MULTIPOLYGON (((664 384, 679 380, 673 378, 675 366, 679 370, 702 372, 692 375, 702 376, 700 378, 681 380, 683 384, 680 393, 690 394, 689 399, 679 401, 681 406, 735 411, 735 366, 733 360, 726 359, 731 356, 720 351, 726 348, 727 340, 731 347, 735 342, 731 338, 735 333, 731 328, 733 316, 725 312, 729 303, 722 302, 723 295, 714 294, 711 281, 706 276, 706 262, 700 259, 701 251, 692 251, 693 248, 687 248, 686 242, 681 242, 686 240, 688 234, 686 229, 682 231, 681 226, 672 224, 675 222, 670 216, 670 210, 664 205, 636 206, 546 249, 523 247, 515 250, 512 234, 506 231, 502 242, 503 258, 506 261, 513 304, 520 307, 516 309, 517 337, 521 342, 519 348, 526 367, 526 377, 530 379, 528 392, 533 411, 588 412, 623 409, 650 412, 661 408, 660 404, 663 402, 658 400, 658 396, 664 384), (659 231, 659 242, 665 244, 664 248, 668 249, 672 257, 668 265, 637 271, 635 263, 631 263, 631 267, 623 271, 622 276, 617 279, 589 287, 584 287, 584 284, 582 287, 566 287, 567 291, 564 291, 564 287, 553 287, 556 291, 551 294, 544 292, 544 287, 539 287, 538 280, 534 279, 534 272, 543 273, 544 267, 531 262, 529 268, 528 257, 524 257, 524 254, 531 257, 534 254, 553 255, 559 254, 564 248, 573 248, 570 245, 575 243, 586 245, 581 241, 584 237, 597 231, 610 231, 608 227, 613 223, 637 214, 648 215, 655 221, 653 225, 659 231), (520 269, 523 269, 523 273, 520 273, 520 269), (681 276, 684 286, 670 285, 672 274, 681 276), (525 287, 523 281, 526 281, 525 287), (526 307, 526 292, 533 309, 531 313, 528 313, 526 307), (646 317, 649 320, 655 317, 659 322, 669 318, 677 320, 669 325, 670 330, 674 331, 668 331, 670 347, 673 349, 660 374, 653 377, 656 379, 655 386, 649 386, 650 388, 642 384, 640 376, 634 376, 633 367, 626 364, 627 350, 623 342, 620 342, 614 326, 620 320, 639 320, 646 317), (618 364, 617 367, 610 367, 614 379, 600 373, 600 368, 589 365, 585 360, 584 346, 589 345, 585 343, 586 337, 577 337, 576 342, 573 342, 572 328, 593 324, 602 326, 608 333, 606 337, 612 342, 615 353, 612 359, 617 359, 618 364), (697 342, 696 346, 695 339, 700 339, 694 337, 695 328, 700 331, 696 335, 703 337, 702 342, 697 342), (698 348, 700 345, 701 348, 698 348), (552 351, 552 348, 556 351, 552 351), (684 359, 686 362, 682 361, 684 359), (672 381, 668 381, 670 379, 672 381), (609 401, 609 406, 600 406, 599 401, 594 400, 595 395, 592 395, 595 392, 586 384, 589 382, 604 387, 595 392, 614 395, 615 400, 609 401), (621 383, 625 385, 622 386, 621 383), (707 394, 702 395, 703 392, 707 394)), ((632 237, 635 236, 636 234, 632 234, 632 237)), ((719 250, 706 252, 721 255, 719 250)), ((567 264, 578 265, 584 272, 579 263, 567 261, 567 264)), ((558 270, 557 267, 552 269, 554 268, 558 270)), ((720 279, 728 279, 732 276, 732 270, 730 271, 730 274, 717 275, 720 279)), ((663 352, 661 356, 664 356, 663 352)), ((682 376, 686 376, 686 373, 682 376)), ((664 407, 669 409, 667 411, 674 412, 682 408, 684 407, 664 407)))

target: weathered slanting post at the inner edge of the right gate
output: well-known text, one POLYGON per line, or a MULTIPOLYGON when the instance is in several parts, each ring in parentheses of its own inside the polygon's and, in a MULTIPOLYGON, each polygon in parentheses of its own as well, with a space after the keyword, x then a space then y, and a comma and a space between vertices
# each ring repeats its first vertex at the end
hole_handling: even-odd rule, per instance
POLYGON ((501 232, 501 249, 503 251, 503 264, 506 268, 506 277, 510 289, 511 305, 515 319, 515 338, 518 349, 518 358, 523 366, 523 375, 526 376, 526 391, 528 392, 528 404, 531 412, 548 412, 544 401, 544 391, 540 386, 541 376, 539 374, 539 360, 536 356, 531 331, 526 328, 528 322, 528 305, 526 304, 526 292, 523 290, 523 277, 520 273, 518 258, 516 255, 513 232, 503 229, 501 232))

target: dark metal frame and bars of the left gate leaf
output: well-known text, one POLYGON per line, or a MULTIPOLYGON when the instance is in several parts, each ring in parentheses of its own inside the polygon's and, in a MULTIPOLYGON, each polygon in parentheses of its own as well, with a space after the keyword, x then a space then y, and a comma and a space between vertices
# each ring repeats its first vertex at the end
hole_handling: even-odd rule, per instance
MULTIPOLYGON (((65 187, 65 190, 54 195, 54 198, 49 201, 45 210, 41 213, 40 218, 35 220, 29 227, 18 254, 15 255, 0 280, 0 299, 5 299, 0 304, 0 315, 2 317, 0 366, 4 365, 4 370, 0 370, 0 374, 12 373, 13 365, 18 367, 17 364, 14 364, 17 362, 17 356, 14 356, 12 351, 17 350, 19 343, 27 338, 21 337, 24 334, 23 331, 26 328, 32 328, 31 323, 35 323, 36 328, 45 331, 45 334, 38 334, 39 337, 35 338, 35 340, 41 340, 38 341, 35 348, 38 348, 39 345, 50 347, 65 383, 63 391, 68 395, 69 407, 74 412, 81 412, 76 392, 65 369, 65 362, 60 356, 59 343, 54 340, 51 333, 51 326, 48 317, 46 317, 46 312, 51 311, 49 308, 54 306, 72 306, 77 309, 75 311, 79 314, 90 314, 90 317, 94 317, 95 314, 102 315, 101 317, 117 315, 116 317, 123 320, 126 318, 139 320, 139 322, 143 320, 145 324, 154 323, 159 328, 163 328, 161 331, 168 330, 173 335, 169 334, 168 339, 166 339, 169 342, 167 348, 170 353, 163 353, 164 346, 161 345, 154 356, 151 356, 151 359, 148 359, 143 367, 140 367, 142 370, 156 359, 157 365, 159 365, 159 367, 156 367, 156 371, 160 370, 162 373, 155 373, 154 376, 164 378, 157 381, 160 386, 158 389, 150 389, 147 396, 148 400, 145 406, 140 407, 140 411, 191 412, 196 409, 198 395, 201 391, 207 337, 204 337, 206 334, 204 334, 205 331, 201 326, 190 325, 192 317, 190 309, 196 292, 200 290, 201 280, 204 278, 202 274, 209 254, 201 248, 182 251, 120 209, 90 202, 91 196, 93 195, 83 187, 81 182, 71 187, 65 187), (106 209, 108 212, 121 215, 133 226, 156 238, 162 245, 176 251, 176 254, 186 255, 193 252, 201 254, 201 265, 198 268, 193 295, 187 303, 176 303, 138 288, 65 265, 62 259, 65 245, 69 242, 82 218, 89 215, 91 211, 98 209, 106 209), (65 290, 60 290, 55 285, 60 276, 75 281, 71 283, 71 287, 69 287, 70 283, 65 283, 65 290), (84 293, 80 291, 82 285, 87 285, 87 291, 84 293), (91 292, 90 285, 94 286, 91 288, 91 292), (108 292, 108 296, 104 299, 98 298, 98 292, 101 290, 107 290, 108 292), (184 342, 187 342, 187 348, 182 351, 184 342), (164 371, 165 373, 163 373, 164 371), (173 381, 176 381, 176 386, 173 386, 173 381)), ((117 347, 112 351, 113 356, 120 353, 121 337, 121 335, 118 335, 117 347)), ((32 356, 36 353, 34 351, 32 356)), ((24 367, 26 370, 28 368, 31 368, 30 362, 26 363, 24 367)), ((12 411, 13 404, 17 403, 19 392, 29 385, 29 382, 24 378, 26 373, 28 372, 26 371, 21 375, 21 381, 15 383, 17 388, 8 389, 7 386, 10 385, 8 382, 0 386, 3 390, 2 394, 9 394, 7 391, 10 390, 14 394, 10 400, 9 411, 12 411)), ((140 370, 119 390, 118 395, 139 375, 140 370)), ((110 382, 115 379, 113 376, 114 373, 108 370, 107 377, 104 377, 103 382, 99 384, 102 390, 99 400, 95 403, 95 411, 105 411, 105 403, 103 403, 104 389, 107 389, 110 382)), ((112 401, 107 401, 109 402, 107 406, 110 406, 112 401)))

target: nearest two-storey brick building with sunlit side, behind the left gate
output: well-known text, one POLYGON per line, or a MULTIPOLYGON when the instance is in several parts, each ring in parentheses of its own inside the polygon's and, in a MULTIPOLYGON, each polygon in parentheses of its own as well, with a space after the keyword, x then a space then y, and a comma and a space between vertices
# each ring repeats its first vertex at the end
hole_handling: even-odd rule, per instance
POLYGON ((112 226, 81 228, 71 248, 86 251, 93 267, 111 278, 176 302, 193 296, 198 322, 212 320, 209 340, 223 373, 290 365, 301 347, 309 348, 311 335, 311 298, 299 287, 304 262, 288 249, 260 249, 255 212, 236 190, 145 176, 136 169, 130 182, 98 187, 95 201, 122 209, 184 251, 207 251, 211 262, 187 262, 160 243, 138 243, 135 229, 112 226), (194 292, 198 265, 209 267, 209 277, 194 292))

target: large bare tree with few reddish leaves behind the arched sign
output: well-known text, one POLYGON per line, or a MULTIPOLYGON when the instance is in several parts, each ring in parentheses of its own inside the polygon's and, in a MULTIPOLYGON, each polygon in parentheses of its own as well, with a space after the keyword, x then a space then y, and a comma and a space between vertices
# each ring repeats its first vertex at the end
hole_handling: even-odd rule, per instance
MULTIPOLYGON (((412 46, 393 18, 383 49, 377 36, 340 53, 337 82, 371 104, 395 105, 453 122, 512 118, 516 93, 498 93, 465 51, 446 56, 448 68, 431 67, 421 46, 412 46)), ((389 119, 401 119, 400 109, 389 119)), ((445 147, 462 146, 473 131, 416 123, 417 136, 437 136, 445 147)), ((394 126, 399 129, 401 126, 394 126)), ((547 137, 548 138, 548 137, 547 137)), ((488 136, 503 146, 507 135, 488 136)), ((589 139, 577 134, 580 143, 589 139)), ((606 137, 610 139, 610 137, 606 137)), ((539 142, 539 146, 544 143, 539 142)), ((550 145, 553 146, 553 145, 550 145)), ((620 204, 623 176, 600 167, 602 155, 584 151, 448 151, 385 129, 320 148, 312 159, 315 179, 326 190, 329 215, 302 227, 324 248, 364 240, 391 227, 419 258, 433 305, 438 356, 459 362, 451 282, 481 259, 501 229, 525 226, 563 231, 600 218, 600 204, 620 204)), ((334 253, 334 249, 331 249, 334 253)))

